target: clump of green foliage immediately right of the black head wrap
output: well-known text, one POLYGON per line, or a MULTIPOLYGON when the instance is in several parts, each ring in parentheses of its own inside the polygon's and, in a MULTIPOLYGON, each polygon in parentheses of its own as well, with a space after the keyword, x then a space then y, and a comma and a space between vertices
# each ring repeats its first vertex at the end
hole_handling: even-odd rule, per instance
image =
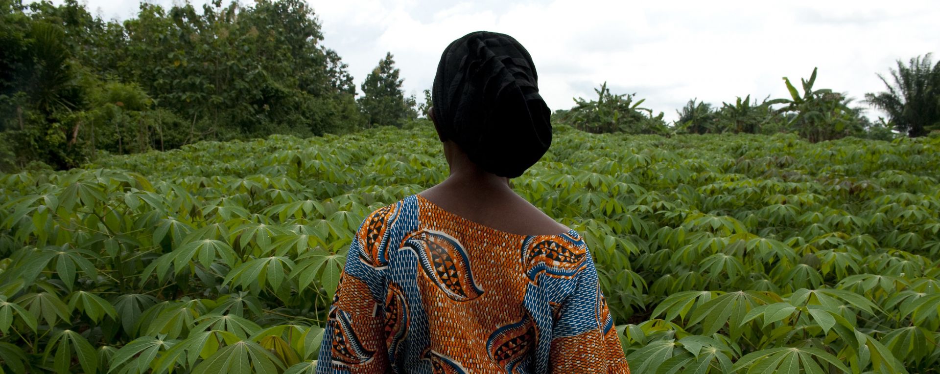
POLYGON ((570 110, 556 111, 556 121, 585 132, 666 133, 663 113, 653 117, 652 110, 640 105, 646 99, 635 101, 636 94, 614 95, 604 82, 594 88, 597 100, 574 99, 570 110))

